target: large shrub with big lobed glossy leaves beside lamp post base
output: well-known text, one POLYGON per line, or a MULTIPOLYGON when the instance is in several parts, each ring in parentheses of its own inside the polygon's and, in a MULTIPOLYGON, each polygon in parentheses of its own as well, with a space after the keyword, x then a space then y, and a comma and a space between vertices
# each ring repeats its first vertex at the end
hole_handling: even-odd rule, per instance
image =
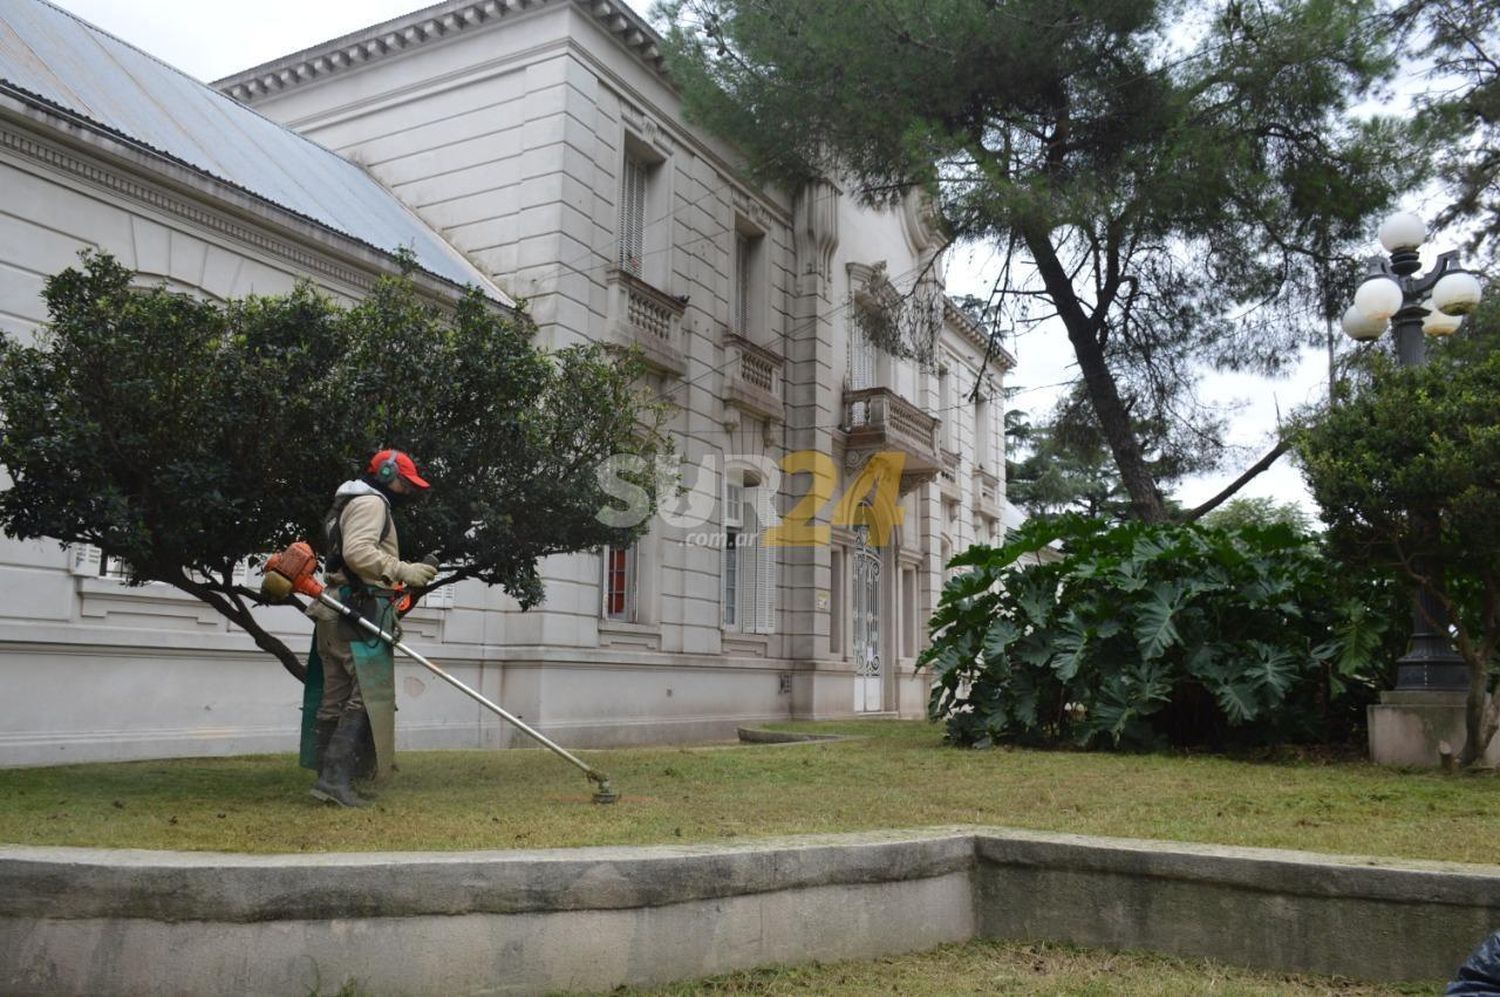
POLYGON ((1287 526, 1070 516, 954 558, 928 714, 948 739, 1096 747, 1326 739, 1374 685, 1384 618, 1287 526), (1060 540, 1064 556, 1020 559, 1060 540))

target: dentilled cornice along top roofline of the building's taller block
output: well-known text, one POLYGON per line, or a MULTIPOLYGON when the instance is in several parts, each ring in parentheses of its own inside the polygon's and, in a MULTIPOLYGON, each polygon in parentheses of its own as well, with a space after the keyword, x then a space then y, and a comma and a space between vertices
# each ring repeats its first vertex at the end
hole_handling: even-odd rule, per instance
POLYGON ((382 24, 362 28, 322 45, 216 79, 213 88, 242 103, 286 93, 381 58, 410 52, 558 3, 582 9, 646 69, 668 79, 662 37, 620 0, 447 0, 382 24))

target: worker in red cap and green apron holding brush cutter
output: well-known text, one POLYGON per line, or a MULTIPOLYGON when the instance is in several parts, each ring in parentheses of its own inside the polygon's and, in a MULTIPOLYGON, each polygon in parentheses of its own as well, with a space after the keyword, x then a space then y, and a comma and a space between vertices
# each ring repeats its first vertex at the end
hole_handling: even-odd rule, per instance
MULTIPOLYGON (((386 633, 396 630, 394 589, 424 586, 434 564, 402 561, 392 508, 428 490, 417 465, 399 450, 370 456, 364 474, 345 481, 324 519, 330 595, 386 633)), ((315 799, 364 807, 351 781, 362 757, 374 756, 369 774, 387 775, 396 739, 396 685, 392 646, 314 603, 312 652, 303 693, 302 765, 318 772, 315 799)))

